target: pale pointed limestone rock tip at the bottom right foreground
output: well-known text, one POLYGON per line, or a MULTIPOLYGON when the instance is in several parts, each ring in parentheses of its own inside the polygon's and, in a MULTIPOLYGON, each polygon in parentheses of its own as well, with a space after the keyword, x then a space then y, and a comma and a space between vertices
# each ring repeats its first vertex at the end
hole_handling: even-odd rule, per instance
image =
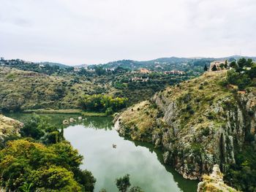
POLYGON ((203 181, 198 183, 197 192, 236 192, 236 189, 227 186, 223 181, 223 174, 220 172, 219 165, 214 165, 210 175, 204 175, 203 181))

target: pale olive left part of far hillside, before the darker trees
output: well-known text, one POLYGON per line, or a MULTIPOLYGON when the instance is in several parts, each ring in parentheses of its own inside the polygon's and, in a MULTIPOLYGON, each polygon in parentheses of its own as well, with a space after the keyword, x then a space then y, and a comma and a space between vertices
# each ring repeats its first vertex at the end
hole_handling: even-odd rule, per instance
POLYGON ((78 108, 78 99, 105 85, 94 85, 86 78, 49 76, 0 67, 0 110, 78 108))

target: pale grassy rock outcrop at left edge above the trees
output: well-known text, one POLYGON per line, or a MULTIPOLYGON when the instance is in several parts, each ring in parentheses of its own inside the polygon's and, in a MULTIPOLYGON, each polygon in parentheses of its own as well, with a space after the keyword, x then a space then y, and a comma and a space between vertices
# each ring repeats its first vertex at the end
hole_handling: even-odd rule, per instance
POLYGON ((23 126, 23 123, 20 123, 18 120, 7 118, 0 114, 0 141, 4 137, 19 135, 21 126, 23 126))

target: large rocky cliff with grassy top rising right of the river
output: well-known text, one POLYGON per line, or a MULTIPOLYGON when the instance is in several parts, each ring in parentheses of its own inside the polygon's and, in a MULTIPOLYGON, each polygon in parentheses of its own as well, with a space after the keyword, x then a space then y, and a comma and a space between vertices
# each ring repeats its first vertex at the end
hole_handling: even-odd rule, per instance
POLYGON ((226 72, 208 72, 161 91, 116 116, 121 135, 162 147, 166 164, 200 179, 218 164, 236 164, 244 142, 255 142, 256 89, 223 85, 226 72))

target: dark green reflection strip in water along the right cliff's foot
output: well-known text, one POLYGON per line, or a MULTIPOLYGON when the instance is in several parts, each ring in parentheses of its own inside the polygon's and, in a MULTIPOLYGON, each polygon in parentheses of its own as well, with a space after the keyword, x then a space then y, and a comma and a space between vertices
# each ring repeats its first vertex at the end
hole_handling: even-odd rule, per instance
POLYGON ((124 138, 125 140, 129 140, 130 142, 133 142, 136 147, 146 147, 151 153, 156 153, 157 154, 157 159, 158 161, 165 166, 165 169, 167 172, 170 172, 173 174, 173 180, 177 183, 178 188, 180 188, 184 192, 190 192, 190 191, 197 191, 197 180, 186 180, 184 179, 181 174, 178 174, 175 169, 173 169, 172 166, 166 165, 164 163, 164 158, 162 156, 163 151, 160 148, 155 148, 154 145, 147 143, 147 142, 138 142, 138 141, 133 141, 132 139, 129 139, 127 137, 124 138))

